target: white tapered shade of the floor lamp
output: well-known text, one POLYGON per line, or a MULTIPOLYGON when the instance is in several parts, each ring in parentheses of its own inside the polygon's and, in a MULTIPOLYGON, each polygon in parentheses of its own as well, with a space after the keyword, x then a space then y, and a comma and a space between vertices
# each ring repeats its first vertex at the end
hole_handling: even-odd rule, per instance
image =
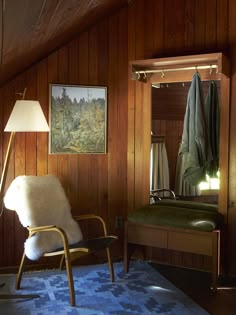
POLYGON ((4 131, 49 131, 48 123, 38 101, 18 100, 4 131))

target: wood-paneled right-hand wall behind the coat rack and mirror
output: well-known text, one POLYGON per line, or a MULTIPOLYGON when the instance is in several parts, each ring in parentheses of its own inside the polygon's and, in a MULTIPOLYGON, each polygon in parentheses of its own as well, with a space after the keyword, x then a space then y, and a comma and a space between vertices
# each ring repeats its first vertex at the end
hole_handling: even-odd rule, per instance
MULTIPOLYGON (((136 0, 129 5, 129 60, 222 51, 231 59, 230 200, 227 261, 236 274, 236 29, 234 0, 136 0)), ((128 211, 148 201, 150 108, 148 87, 128 81, 128 211), (142 118, 137 118, 138 115, 142 118), (135 123, 134 123, 135 122, 135 123), (140 149, 140 146, 142 149, 140 149), (146 190, 146 193, 144 192, 146 190), (138 194, 138 195, 137 195, 138 194)), ((209 261, 181 253, 154 253, 159 261, 205 268, 209 261)))

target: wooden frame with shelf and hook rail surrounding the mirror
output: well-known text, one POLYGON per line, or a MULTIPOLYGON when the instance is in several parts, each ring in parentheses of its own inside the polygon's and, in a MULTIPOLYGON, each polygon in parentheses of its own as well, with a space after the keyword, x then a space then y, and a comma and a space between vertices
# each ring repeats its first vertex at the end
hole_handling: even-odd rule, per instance
MULTIPOLYGON (((192 81, 198 71, 202 80, 220 80, 220 189, 219 212, 228 222, 228 186, 229 186, 229 98, 230 98, 230 63, 223 53, 188 55, 178 57, 135 60, 129 63, 129 75, 132 80, 147 84, 151 91, 152 83, 170 83, 192 81)), ((151 103, 151 96, 148 96, 151 103)), ((151 109, 151 104, 148 106, 151 109)), ((150 112, 151 120, 151 112, 150 112)), ((151 134, 151 122, 149 122, 151 134)), ((145 192, 147 198, 149 191, 145 192)))

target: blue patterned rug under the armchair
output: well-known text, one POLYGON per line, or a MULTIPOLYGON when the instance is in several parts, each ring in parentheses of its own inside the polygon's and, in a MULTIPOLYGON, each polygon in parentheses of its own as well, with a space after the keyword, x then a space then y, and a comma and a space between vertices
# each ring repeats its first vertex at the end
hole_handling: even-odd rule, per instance
POLYGON ((115 263, 115 282, 107 265, 73 268, 76 306, 69 303, 65 271, 27 272, 22 290, 15 291, 15 275, 1 275, 1 293, 39 294, 35 299, 0 300, 1 315, 207 315, 146 262, 136 261, 124 273, 115 263))

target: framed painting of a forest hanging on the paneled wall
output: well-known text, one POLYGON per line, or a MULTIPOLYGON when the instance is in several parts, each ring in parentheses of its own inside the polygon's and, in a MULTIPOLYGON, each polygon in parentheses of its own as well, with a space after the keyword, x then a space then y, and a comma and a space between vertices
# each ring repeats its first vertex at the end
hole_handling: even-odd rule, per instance
POLYGON ((50 153, 105 153, 106 88, 50 88, 50 153))

